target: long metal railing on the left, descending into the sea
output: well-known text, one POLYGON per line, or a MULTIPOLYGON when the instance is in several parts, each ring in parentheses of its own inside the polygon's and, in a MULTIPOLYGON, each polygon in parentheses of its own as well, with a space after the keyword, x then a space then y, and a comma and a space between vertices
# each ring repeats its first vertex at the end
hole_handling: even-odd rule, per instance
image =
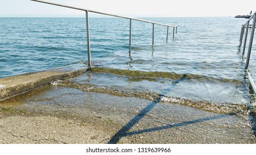
POLYGON ((100 12, 100 11, 93 11, 91 9, 84 9, 84 8, 79 8, 79 7, 74 7, 74 6, 69 6, 66 4, 62 3, 56 3, 56 2, 51 2, 51 1, 43 1, 43 0, 30 0, 30 1, 35 1, 35 2, 41 2, 41 3, 47 3, 47 4, 52 4, 55 6, 60 6, 60 7, 66 7, 66 8, 71 8, 71 9, 77 9, 80 11, 85 11, 86 14, 86 33, 87 33, 87 50, 88 50, 88 65, 91 65, 91 52, 90 52, 90 29, 89 29, 89 16, 88 12, 93 12, 93 13, 98 13, 98 14, 104 14, 107 16, 113 16, 113 17, 119 17, 119 18, 126 18, 130 19, 130 38, 129 38, 129 52, 131 53, 131 37, 132 37, 132 20, 137 20, 140 22, 146 22, 146 23, 151 23, 153 24, 153 29, 152 29, 152 45, 154 45, 154 38, 155 38, 155 24, 156 25, 162 25, 167 27, 167 37, 166 37, 166 42, 168 41, 168 33, 169 33, 169 27, 173 28, 173 35, 172 37, 175 38, 175 35, 177 34, 177 25, 168 25, 168 24, 161 24, 161 23, 156 23, 156 22, 151 22, 149 20, 144 20, 144 19, 138 19, 138 18, 132 18, 132 17, 126 17, 126 16, 120 16, 117 14, 110 14, 110 13, 105 13, 105 12, 100 12))

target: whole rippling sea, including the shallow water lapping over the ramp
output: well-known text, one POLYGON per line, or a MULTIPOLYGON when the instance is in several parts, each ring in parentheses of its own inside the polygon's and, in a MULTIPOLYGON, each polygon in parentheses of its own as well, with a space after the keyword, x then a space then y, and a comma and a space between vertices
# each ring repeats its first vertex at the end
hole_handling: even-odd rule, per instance
MULTIPOLYGON (((239 46, 240 30, 247 19, 142 19, 177 25, 177 35, 173 38, 170 27, 166 40, 167 27, 155 25, 152 45, 152 24, 132 20, 129 53, 129 19, 89 18, 94 85, 196 101, 252 102, 239 46)), ((255 41, 249 64, 254 80, 255 41)), ((0 18, 0 78, 87 64, 87 60, 85 18, 0 18)))

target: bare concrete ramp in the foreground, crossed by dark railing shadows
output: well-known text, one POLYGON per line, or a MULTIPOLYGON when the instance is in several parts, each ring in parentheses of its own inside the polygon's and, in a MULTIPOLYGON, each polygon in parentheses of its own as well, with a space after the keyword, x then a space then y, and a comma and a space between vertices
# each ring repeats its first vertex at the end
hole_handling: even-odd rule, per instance
POLYGON ((256 143, 249 116, 45 86, 0 102, 0 143, 256 143))

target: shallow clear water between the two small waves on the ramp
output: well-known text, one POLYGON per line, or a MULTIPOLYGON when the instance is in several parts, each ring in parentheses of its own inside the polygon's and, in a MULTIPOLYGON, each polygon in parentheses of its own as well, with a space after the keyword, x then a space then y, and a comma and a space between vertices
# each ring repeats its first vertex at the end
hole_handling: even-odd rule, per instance
POLYGON ((194 101, 241 105, 249 102, 247 85, 242 81, 203 75, 93 68, 70 81, 92 85, 91 88, 164 94, 166 97, 194 101), (175 87, 169 91, 173 86, 175 87))

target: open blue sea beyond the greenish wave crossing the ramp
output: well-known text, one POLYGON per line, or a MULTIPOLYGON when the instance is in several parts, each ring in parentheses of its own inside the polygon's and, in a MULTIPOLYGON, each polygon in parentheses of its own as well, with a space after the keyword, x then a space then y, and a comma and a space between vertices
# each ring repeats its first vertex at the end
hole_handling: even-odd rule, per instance
MULTIPOLYGON (((245 19, 148 18, 177 24, 172 39, 166 27, 133 22, 129 56, 129 20, 91 18, 91 55, 106 68, 167 71, 228 79, 240 76, 238 44, 245 19), (131 61, 132 59, 132 61, 131 61)), ((0 77, 47 70, 87 60, 84 18, 0 18, 0 77)))

